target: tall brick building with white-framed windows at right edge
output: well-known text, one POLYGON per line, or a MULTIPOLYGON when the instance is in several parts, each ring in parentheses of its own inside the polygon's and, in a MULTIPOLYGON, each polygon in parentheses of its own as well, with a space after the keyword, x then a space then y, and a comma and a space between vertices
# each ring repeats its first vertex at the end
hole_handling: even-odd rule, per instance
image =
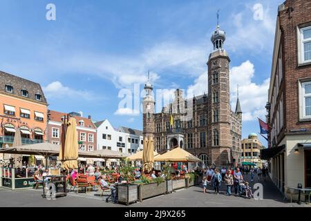
POLYGON ((267 102, 272 180, 311 187, 311 1, 288 0, 276 19, 272 73, 267 102))

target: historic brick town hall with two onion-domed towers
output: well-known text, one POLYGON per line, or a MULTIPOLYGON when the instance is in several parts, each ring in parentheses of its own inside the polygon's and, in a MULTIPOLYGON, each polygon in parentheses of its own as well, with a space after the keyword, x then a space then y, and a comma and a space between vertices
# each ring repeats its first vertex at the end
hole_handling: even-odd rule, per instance
POLYGON ((155 113, 153 86, 147 81, 143 133, 154 138, 160 153, 180 146, 200 157, 205 166, 237 166, 241 161, 242 111, 239 100, 236 111, 230 108, 230 59, 223 48, 225 32, 219 26, 211 41, 214 51, 207 61, 208 94, 186 99, 177 89, 173 102, 155 113))

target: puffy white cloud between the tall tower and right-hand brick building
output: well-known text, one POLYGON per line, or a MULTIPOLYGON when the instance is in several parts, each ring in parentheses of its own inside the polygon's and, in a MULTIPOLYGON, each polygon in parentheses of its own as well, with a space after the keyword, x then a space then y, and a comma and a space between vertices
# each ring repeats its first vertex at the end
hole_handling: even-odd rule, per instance
POLYGON ((270 79, 265 79, 261 84, 256 84, 252 81, 254 73, 254 64, 248 60, 230 70, 232 109, 234 110, 236 107, 236 86, 238 85, 243 121, 252 121, 256 117, 265 119, 266 115, 265 103, 267 102, 270 79))

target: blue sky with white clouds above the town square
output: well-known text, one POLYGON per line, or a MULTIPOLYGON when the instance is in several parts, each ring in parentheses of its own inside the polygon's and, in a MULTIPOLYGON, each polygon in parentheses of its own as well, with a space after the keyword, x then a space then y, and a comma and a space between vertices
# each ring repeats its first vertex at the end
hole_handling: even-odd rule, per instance
POLYGON ((265 116, 282 2, 1 0, 0 70, 40 83, 52 110, 142 129, 141 113, 118 111, 120 90, 142 89, 150 70, 155 88, 207 91, 206 62, 220 9, 232 108, 238 84, 246 137, 259 131, 256 117, 265 116), (46 20, 48 3, 56 6, 55 21, 46 20), (254 19, 256 3, 263 6, 260 19, 254 19))

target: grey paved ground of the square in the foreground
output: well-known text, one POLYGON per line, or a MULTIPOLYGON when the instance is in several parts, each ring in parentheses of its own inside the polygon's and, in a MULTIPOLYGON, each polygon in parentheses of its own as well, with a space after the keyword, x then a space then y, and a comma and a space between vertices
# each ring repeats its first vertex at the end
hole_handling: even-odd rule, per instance
MULTIPOLYGON (((245 175, 245 180, 249 180, 249 176, 245 175)), ((255 179, 255 182, 258 180, 255 179)), ((289 203, 283 200, 283 195, 272 184, 270 180, 263 181, 263 200, 245 199, 235 195, 225 195, 225 185, 221 186, 219 195, 214 194, 214 190, 209 187, 208 193, 202 193, 201 186, 192 186, 189 189, 180 189, 174 193, 167 195, 160 195, 155 198, 144 200, 131 204, 129 207, 152 206, 152 207, 249 207, 249 206, 310 206, 308 204, 298 205, 295 202, 289 203)), ((254 184, 254 182, 251 182, 254 184)), ((42 189, 24 189, 11 191, 9 189, 0 188, 0 206, 101 206, 101 207, 117 207, 124 206, 122 204, 106 203, 106 197, 100 198, 99 193, 89 192, 85 193, 68 193, 66 197, 57 198, 56 200, 46 200, 41 197, 42 189)))

